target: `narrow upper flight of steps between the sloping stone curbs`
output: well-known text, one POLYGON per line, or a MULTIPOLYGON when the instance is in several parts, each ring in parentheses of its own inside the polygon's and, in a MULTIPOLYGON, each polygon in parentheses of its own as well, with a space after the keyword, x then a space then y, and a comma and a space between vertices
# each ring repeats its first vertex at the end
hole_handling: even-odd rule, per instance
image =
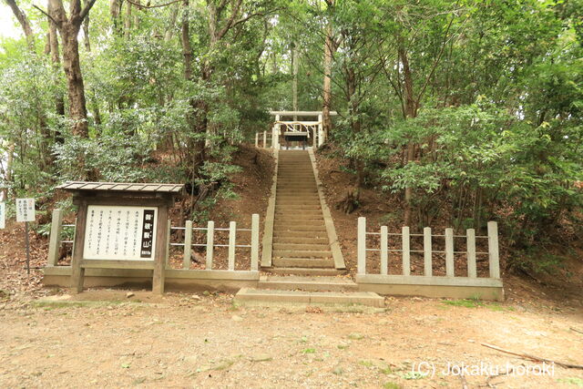
POLYGON ((320 196, 308 151, 280 150, 272 267, 279 274, 323 275, 334 268, 320 196))

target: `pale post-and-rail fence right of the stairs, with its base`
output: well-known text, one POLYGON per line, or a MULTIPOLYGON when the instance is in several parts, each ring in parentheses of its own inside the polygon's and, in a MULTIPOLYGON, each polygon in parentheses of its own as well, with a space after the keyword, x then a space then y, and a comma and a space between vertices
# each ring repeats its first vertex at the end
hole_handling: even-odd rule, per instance
MULTIPOLYGON (((398 238, 397 238, 398 239, 398 238)), ((501 285, 500 282, 489 282, 500 279, 500 264, 498 253, 498 230, 496 221, 487 223, 487 235, 476 236, 476 230, 468 229, 465 235, 455 235, 453 229, 445 229, 445 234, 434 234, 429 227, 424 228, 423 233, 411 233, 409 227, 403 227, 400 232, 389 232, 386 226, 380 231, 369 232, 366 230, 366 218, 358 218, 358 265, 357 280, 384 282, 384 283, 410 283, 410 284, 432 284, 433 282, 460 285, 460 286, 487 286, 501 285), (380 245, 375 248, 367 247, 367 237, 378 236, 380 245), (400 237, 400 243, 389 246, 389 237, 400 237), (412 250, 411 238, 423 238, 423 250, 412 250), (433 250, 434 238, 445 240, 445 251, 433 250), (454 239, 465 239, 465 251, 455 251, 454 239), (476 240, 487 240, 488 250, 476 251, 476 240), (366 272, 367 252, 380 252, 380 277, 376 274, 373 278, 367 278, 366 272), (401 274, 389 274, 389 253, 395 252, 401 255, 401 274), (423 275, 411 274, 411 253, 423 254, 423 275), (445 276, 434 275, 434 254, 445 254, 445 276), (466 276, 455 276, 455 254, 465 254, 467 263, 466 276), (487 255, 489 265, 489 277, 478 277, 476 267, 476 256, 487 255)))

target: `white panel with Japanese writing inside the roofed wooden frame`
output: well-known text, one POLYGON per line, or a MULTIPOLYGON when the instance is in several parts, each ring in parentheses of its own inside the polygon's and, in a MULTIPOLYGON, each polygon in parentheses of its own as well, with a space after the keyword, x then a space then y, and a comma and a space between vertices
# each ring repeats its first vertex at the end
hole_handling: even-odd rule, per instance
POLYGON ((83 259, 153 261, 156 207, 87 207, 83 259))

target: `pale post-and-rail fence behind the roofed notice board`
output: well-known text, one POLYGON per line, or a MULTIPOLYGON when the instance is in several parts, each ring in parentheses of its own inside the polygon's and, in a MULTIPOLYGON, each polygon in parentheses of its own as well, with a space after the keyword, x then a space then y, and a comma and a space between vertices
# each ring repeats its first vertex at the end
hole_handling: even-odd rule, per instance
MULTIPOLYGON (((75 224, 63 224, 63 211, 62 210, 53 210, 53 220, 51 223, 51 234, 49 240, 49 247, 48 247, 48 266, 57 266, 58 260, 60 257, 60 248, 62 245, 65 244, 73 244, 75 242, 75 236, 73 236, 72 240, 63 240, 62 236, 64 234, 65 229, 73 228, 75 230, 75 226, 77 224, 77 220, 75 224)), ((240 228, 237 226, 235 221, 230 221, 228 228, 220 228, 215 227, 214 221, 209 221, 205 227, 194 226, 192 220, 187 220, 185 222, 185 227, 172 227, 170 220, 168 223, 168 242, 169 245, 167 247, 167 268, 169 267, 169 248, 170 247, 182 247, 183 248, 183 261, 182 261, 182 268, 189 269, 191 256, 192 256, 192 248, 193 247, 204 247, 205 248, 205 259, 206 259, 206 266, 205 271, 213 270, 213 258, 214 258, 214 249, 218 247, 227 247, 228 248, 228 269, 227 271, 235 271, 235 261, 236 255, 235 251, 238 248, 242 249, 250 249, 251 250, 251 269, 249 271, 258 271, 259 270, 259 236, 260 236, 260 220, 258 214, 253 214, 251 216, 251 229, 240 228), (180 242, 170 242, 170 235, 172 230, 183 230, 184 231, 184 240, 180 242), (193 231, 204 231, 206 235, 206 241, 197 243, 193 242, 193 231), (220 244, 216 243, 215 233, 217 231, 228 231, 229 232, 229 242, 227 244, 220 244), (251 232, 251 241, 250 244, 237 244, 237 235, 238 232, 251 232)), ((73 247, 75 245, 73 244, 73 247)))

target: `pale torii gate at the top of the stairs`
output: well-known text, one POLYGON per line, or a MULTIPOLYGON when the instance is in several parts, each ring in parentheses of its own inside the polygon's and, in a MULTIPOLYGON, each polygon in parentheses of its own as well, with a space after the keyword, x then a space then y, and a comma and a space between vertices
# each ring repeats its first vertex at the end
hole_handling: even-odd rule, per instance
MULTIPOLYGON (((323 131, 322 111, 270 111, 275 117, 271 128, 271 148, 281 148, 280 135, 312 137, 312 148, 319 148, 324 143, 325 134, 323 131), (292 120, 282 120, 292 117, 292 120), (297 120, 298 117, 318 118, 317 120, 297 120), (283 128, 281 128, 283 126, 283 128), (281 131, 283 129, 283 132, 281 131), (312 134, 312 135, 311 135, 312 134)), ((330 112, 331 116, 336 116, 336 111, 330 112)))

